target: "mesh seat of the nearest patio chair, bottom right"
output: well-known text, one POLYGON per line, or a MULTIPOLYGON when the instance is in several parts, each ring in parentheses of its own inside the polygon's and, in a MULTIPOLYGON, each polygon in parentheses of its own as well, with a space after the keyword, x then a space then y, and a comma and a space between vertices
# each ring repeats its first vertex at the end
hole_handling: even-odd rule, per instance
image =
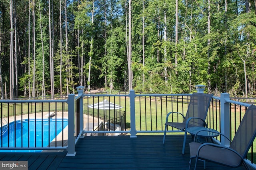
MULTIPOLYGON (((192 142, 189 143, 190 146, 190 158, 196 158, 196 154, 198 152, 198 148, 202 145, 202 143, 192 142)), ((224 164, 228 166, 239 166, 242 162, 240 156, 232 152, 231 150, 214 147, 210 145, 206 145, 202 147, 199 154, 199 159, 206 159, 211 162, 218 162, 219 164, 224 164)))

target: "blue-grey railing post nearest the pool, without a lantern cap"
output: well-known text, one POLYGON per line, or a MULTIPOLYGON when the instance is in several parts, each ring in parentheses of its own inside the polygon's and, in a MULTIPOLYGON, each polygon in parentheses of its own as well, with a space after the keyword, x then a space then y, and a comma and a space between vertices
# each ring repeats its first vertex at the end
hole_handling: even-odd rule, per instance
POLYGON ((75 95, 68 95, 68 148, 66 156, 75 156, 75 95))

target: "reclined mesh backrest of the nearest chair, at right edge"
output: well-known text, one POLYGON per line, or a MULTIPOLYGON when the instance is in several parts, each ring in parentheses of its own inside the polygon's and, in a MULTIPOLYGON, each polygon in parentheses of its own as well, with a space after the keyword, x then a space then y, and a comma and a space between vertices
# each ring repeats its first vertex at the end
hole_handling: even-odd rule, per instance
POLYGON ((251 105, 246 110, 244 117, 230 144, 242 158, 245 158, 256 136, 256 106, 251 105))

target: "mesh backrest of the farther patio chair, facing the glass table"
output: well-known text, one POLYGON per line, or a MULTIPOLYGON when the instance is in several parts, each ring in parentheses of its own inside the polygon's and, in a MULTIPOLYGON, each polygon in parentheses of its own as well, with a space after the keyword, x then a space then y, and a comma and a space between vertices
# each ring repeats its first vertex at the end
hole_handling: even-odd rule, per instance
MULTIPOLYGON (((198 117, 205 121, 206 115, 210 106, 210 102, 213 94, 204 93, 193 93, 190 97, 190 102, 188 104, 188 111, 186 113, 185 121, 190 117, 198 117)), ((190 126, 204 126, 203 121, 199 119, 192 119, 189 121, 190 126)))

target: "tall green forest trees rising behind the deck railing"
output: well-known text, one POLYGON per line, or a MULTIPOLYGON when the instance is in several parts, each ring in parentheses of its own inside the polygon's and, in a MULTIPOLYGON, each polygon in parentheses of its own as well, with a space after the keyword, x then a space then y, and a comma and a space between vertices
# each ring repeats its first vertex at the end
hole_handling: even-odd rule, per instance
POLYGON ((1 0, 0 96, 256 96, 256 0, 1 0))

